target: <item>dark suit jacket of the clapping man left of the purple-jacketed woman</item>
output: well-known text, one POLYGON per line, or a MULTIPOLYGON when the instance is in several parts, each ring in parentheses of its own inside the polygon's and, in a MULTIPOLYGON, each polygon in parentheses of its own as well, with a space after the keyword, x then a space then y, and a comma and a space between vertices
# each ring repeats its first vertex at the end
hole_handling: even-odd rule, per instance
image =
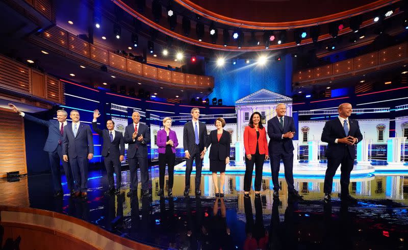
POLYGON ((135 132, 135 127, 133 127, 133 122, 126 126, 124 131, 124 143, 129 144, 127 147, 127 158, 147 158, 147 144, 150 143, 150 131, 149 127, 145 124, 139 124, 139 130, 137 131, 137 137, 143 135, 143 140, 138 141, 137 137, 133 141, 132 135, 135 132))

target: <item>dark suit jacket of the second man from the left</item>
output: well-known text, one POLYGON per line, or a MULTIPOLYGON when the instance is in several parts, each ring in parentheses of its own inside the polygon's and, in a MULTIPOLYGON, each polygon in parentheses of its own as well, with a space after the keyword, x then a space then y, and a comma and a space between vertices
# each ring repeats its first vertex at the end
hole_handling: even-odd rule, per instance
POLYGON ((77 136, 73 136, 72 123, 64 127, 62 154, 68 155, 68 159, 88 157, 88 154, 93 154, 92 131, 87 124, 80 122, 77 136))

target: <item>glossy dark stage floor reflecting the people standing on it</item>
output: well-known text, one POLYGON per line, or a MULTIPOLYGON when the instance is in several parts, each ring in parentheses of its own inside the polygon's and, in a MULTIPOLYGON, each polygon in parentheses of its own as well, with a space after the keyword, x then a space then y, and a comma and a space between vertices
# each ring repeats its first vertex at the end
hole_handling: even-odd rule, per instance
MULTIPOLYGON (((16 183, 0 180, 0 204, 68 214, 123 237, 164 249, 407 247, 407 176, 352 180, 350 193, 359 199, 356 205, 340 202, 337 197, 340 186, 335 181, 333 202, 324 206, 322 179, 295 179, 295 187, 304 195, 304 201, 297 202, 288 200, 284 179, 280 199, 274 200, 269 176, 263 178, 261 197, 251 194, 250 198, 244 198, 242 175, 226 176, 224 198, 214 196, 212 179, 207 175, 201 181, 203 195, 194 197, 191 193, 185 198, 184 176, 176 175, 174 196, 160 198, 157 196, 158 169, 152 168, 152 195, 130 199, 125 195, 129 191, 129 172, 122 172, 121 194, 110 196, 104 195, 104 174, 90 173, 87 201, 68 195, 54 199, 47 174, 23 178, 16 183)), ((66 185, 64 189, 67 193, 66 185)))

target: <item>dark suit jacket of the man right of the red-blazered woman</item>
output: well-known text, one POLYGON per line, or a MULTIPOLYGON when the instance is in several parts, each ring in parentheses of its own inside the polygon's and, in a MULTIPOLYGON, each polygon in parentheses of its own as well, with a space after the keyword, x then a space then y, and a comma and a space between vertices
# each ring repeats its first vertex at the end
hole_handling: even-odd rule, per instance
POLYGON ((296 132, 295 123, 293 117, 284 116, 284 128, 281 126, 281 122, 277 116, 268 120, 268 136, 269 140, 269 154, 281 154, 281 153, 293 153, 295 149, 293 147, 293 141, 290 138, 283 138, 285 133, 296 132))

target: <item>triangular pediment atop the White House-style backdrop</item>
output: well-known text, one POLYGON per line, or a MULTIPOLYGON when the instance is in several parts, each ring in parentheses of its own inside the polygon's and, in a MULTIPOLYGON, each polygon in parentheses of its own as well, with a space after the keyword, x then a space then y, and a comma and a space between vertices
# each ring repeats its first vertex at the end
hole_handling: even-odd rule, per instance
POLYGON ((258 90, 250 95, 247 95, 237 102, 236 105, 247 105, 247 104, 270 104, 270 103, 291 103, 292 98, 278 94, 266 89, 258 90))

